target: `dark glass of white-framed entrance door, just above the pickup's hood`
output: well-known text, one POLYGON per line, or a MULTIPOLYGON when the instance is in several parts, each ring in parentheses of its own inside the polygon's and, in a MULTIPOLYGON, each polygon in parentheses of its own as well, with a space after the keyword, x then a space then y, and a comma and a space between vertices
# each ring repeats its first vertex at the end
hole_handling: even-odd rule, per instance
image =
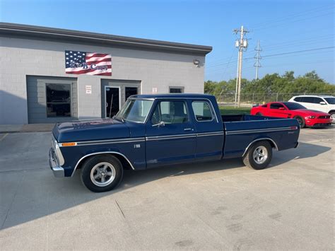
POLYGON ((106 117, 113 117, 120 109, 120 88, 105 86, 106 117))

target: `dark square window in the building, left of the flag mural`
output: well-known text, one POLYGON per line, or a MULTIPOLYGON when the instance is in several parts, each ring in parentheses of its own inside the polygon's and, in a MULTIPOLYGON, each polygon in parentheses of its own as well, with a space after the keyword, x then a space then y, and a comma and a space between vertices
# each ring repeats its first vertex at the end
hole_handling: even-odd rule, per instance
POLYGON ((71 84, 46 83, 47 117, 71 117, 71 84))

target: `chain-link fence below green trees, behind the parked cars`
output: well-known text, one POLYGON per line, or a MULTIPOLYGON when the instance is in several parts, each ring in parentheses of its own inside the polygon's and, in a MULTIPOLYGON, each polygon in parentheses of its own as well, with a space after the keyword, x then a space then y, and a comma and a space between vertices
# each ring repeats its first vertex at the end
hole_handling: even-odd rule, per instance
MULTIPOLYGON (((208 93, 216 96, 219 106, 235 105, 235 93, 208 93)), ((288 101, 293 96, 298 95, 335 95, 335 93, 241 93, 240 106, 252 107, 252 105, 288 101)))

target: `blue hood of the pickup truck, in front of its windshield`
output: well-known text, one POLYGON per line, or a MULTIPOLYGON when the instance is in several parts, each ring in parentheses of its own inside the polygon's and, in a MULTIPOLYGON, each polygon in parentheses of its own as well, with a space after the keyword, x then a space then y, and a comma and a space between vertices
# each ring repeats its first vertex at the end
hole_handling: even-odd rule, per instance
POLYGON ((129 127, 115 119, 57 123, 52 134, 58 142, 129 138, 129 127))

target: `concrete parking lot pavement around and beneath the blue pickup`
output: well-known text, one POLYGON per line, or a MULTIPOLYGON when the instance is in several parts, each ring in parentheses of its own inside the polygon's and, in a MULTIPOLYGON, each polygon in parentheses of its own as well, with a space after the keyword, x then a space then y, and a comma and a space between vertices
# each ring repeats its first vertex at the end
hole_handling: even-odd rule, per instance
POLYGON ((334 249, 335 128, 302 129, 269 168, 242 160, 126 171, 95 194, 55 178, 49 132, 0 134, 0 247, 334 249))

